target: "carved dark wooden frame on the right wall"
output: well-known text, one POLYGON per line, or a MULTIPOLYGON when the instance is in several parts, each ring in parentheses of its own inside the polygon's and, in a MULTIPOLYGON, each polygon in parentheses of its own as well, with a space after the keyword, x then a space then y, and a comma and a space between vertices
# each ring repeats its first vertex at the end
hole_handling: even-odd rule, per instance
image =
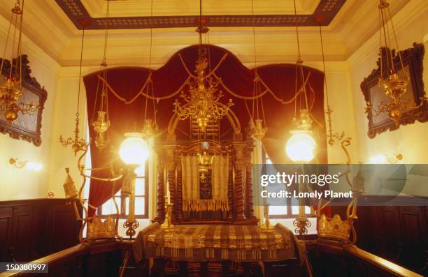
MULTIPOLYGON (((383 53, 389 53, 390 50, 383 48, 383 53)), ((401 51, 401 57, 403 59, 404 67, 408 66, 409 73, 410 73, 410 79, 411 88, 413 89, 413 99, 414 103, 413 105, 420 105, 421 103, 421 97, 425 96, 424 91, 424 82, 422 80, 422 72, 423 72, 423 58, 425 54, 425 48, 423 44, 413 43, 413 48, 409 48, 407 50, 401 51)), ((380 53, 379 53, 380 56, 380 53)), ((395 68, 400 68, 401 70, 401 64, 399 61, 398 54, 395 53, 394 50, 392 50, 392 56, 394 59, 394 66, 395 68)), ((385 57, 385 54, 383 54, 383 57, 385 57)), ((364 78, 363 82, 361 83, 361 90, 364 95, 364 100, 366 103, 373 103, 371 99, 373 98, 372 89, 374 87, 378 86, 378 79, 380 77, 380 58, 376 62, 378 65, 378 68, 373 69, 373 71, 370 73, 370 75, 366 78, 364 78)), ((386 61, 383 61, 383 64, 385 64, 386 61)), ((386 66, 386 65, 385 65, 386 66)), ((384 68, 385 68, 384 66, 384 68)), ((386 70, 384 70, 386 71, 386 70)), ((386 77, 387 73, 384 72, 383 77, 386 77)), ((382 91, 383 93, 383 91, 382 91)), ((376 110, 378 107, 373 106, 372 110, 367 110, 367 119, 369 119, 368 124, 368 132, 367 135, 370 138, 376 137, 377 134, 386 132, 387 130, 397 130, 400 125, 407 125, 415 123, 416 120, 420 122, 428 121, 428 103, 425 101, 425 103, 422 104, 421 107, 418 107, 418 109, 411 110, 408 112, 404 112, 403 116, 399 120, 399 124, 396 125, 392 119, 387 118, 384 119, 378 123, 373 123, 373 110, 376 110)))

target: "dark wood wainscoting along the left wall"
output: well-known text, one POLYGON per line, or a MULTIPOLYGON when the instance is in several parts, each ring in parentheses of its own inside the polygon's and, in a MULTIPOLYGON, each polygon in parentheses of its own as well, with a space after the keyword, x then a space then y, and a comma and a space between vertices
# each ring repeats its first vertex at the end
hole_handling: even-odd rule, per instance
POLYGON ((0 202, 0 261, 27 262, 75 246, 80 226, 64 199, 0 202))

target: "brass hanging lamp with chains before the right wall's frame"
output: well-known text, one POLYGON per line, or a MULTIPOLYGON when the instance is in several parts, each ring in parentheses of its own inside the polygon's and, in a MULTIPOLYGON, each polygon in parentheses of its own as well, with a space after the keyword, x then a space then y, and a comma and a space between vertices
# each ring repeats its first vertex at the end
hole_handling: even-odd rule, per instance
POLYGON ((421 98, 419 105, 411 105, 401 99, 407 91, 410 77, 404 68, 403 59, 401 58, 397 35, 395 33, 394 24, 392 23, 390 3, 387 3, 386 0, 380 0, 378 9, 380 24, 380 77, 378 80, 378 86, 385 91, 385 95, 388 96, 390 100, 381 101, 376 108, 372 107, 371 103, 368 102, 366 112, 373 111, 374 116, 386 113, 398 126, 404 112, 415 110, 422 106, 426 98, 421 98), (394 65, 390 31, 392 31, 394 43, 397 47, 397 54, 401 68, 397 68, 397 66, 394 65), (386 68, 384 68, 385 66, 386 68), (403 70, 404 73, 399 73, 400 69, 403 70), (386 76, 384 77, 385 73, 386 76))

